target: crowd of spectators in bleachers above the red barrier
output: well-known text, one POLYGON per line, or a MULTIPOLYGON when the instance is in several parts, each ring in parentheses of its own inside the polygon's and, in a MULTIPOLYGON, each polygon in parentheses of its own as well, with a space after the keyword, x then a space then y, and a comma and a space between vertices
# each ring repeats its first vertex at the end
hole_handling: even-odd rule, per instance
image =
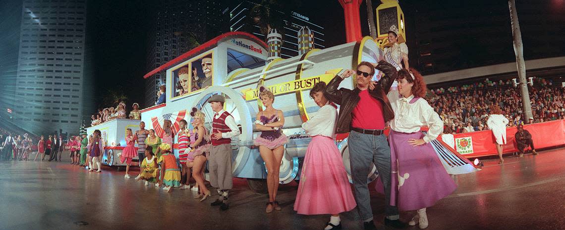
MULTIPOLYGON (((428 93, 428 101, 440 114, 446 130, 453 133, 488 129, 486 119, 489 106, 498 105, 509 120, 509 127, 524 123, 539 123, 565 119, 565 91, 552 82, 538 79, 529 88, 532 118, 525 118, 519 88, 510 80, 477 82, 459 87, 435 88, 428 93)), ((449 132, 448 131, 448 132, 449 132)))

